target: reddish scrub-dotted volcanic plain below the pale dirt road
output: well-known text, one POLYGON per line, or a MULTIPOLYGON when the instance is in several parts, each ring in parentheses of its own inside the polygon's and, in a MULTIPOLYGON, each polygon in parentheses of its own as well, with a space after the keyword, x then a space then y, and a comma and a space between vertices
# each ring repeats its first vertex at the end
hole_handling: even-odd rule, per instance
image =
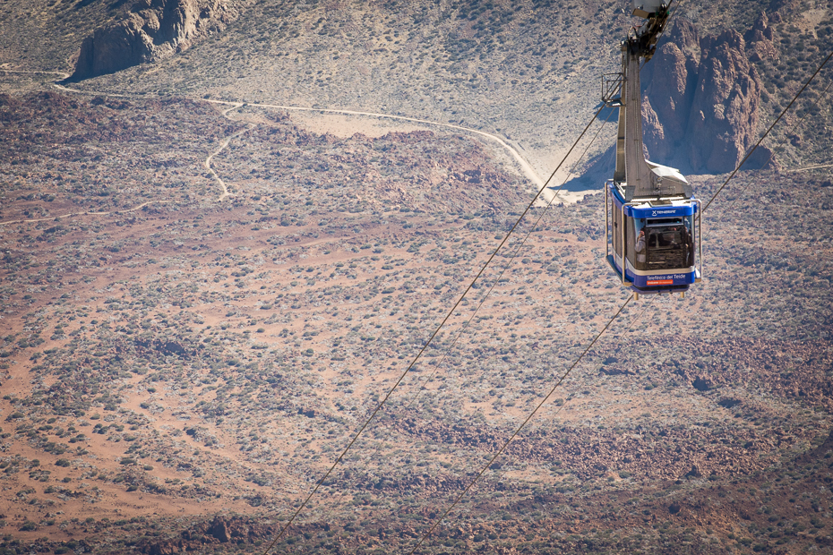
MULTIPOLYGON (((456 133, 339 138, 177 98, 0 102, 5 550, 262 548, 528 200, 456 133)), ((626 308, 430 549, 833 542, 833 182, 738 179, 706 215, 706 279, 626 308)), ((618 309, 604 202, 535 209, 521 231, 538 216, 279 551, 413 546, 618 309)))

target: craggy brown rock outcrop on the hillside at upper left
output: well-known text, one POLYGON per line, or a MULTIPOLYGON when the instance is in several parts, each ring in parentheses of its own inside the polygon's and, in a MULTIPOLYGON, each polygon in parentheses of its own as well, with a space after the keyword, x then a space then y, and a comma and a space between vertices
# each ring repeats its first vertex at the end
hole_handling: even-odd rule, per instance
POLYGON ((125 20, 84 39, 72 79, 115 73, 174 55, 211 31, 222 30, 237 13, 226 0, 140 0, 125 20))

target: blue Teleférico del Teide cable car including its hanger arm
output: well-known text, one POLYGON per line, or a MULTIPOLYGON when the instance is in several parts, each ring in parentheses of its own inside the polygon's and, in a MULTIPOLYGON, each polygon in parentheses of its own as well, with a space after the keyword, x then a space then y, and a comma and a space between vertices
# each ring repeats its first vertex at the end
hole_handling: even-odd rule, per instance
POLYGON ((654 55, 668 7, 634 0, 633 8, 647 21, 622 44, 622 72, 602 81, 605 106, 619 108, 616 169, 605 182, 607 262, 637 298, 684 294, 702 277, 700 201, 679 170, 648 162, 642 150, 640 59, 654 55))

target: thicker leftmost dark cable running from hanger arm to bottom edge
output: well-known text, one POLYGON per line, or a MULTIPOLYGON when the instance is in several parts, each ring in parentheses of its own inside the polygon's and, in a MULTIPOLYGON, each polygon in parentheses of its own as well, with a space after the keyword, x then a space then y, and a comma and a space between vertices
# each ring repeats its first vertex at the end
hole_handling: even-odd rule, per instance
POLYGON ((579 138, 578 138, 578 139, 576 139, 576 141, 572 143, 572 146, 571 146, 571 147, 570 147, 570 149, 567 151, 567 154, 565 154, 565 155, 564 155, 564 158, 562 158, 562 161, 561 161, 561 162, 559 162, 559 164, 558 164, 558 166, 557 166, 557 167, 555 167, 555 169, 553 170, 553 173, 549 176, 549 178, 547 178, 547 180, 546 180, 545 184, 544 184, 544 185, 543 185, 543 186, 542 186, 542 187, 538 190, 538 192, 536 193, 536 195, 532 198, 532 201, 529 201, 529 204, 527 205, 527 208, 526 208, 526 209, 524 209, 523 213, 521 213, 520 218, 518 218, 518 220, 517 220, 517 221, 516 221, 516 222, 515 222, 512 226, 511 226, 511 228, 510 228, 510 230, 509 230, 509 233, 507 233, 507 234, 506 234, 506 236, 505 236, 505 237, 503 237, 503 240, 501 241, 501 243, 497 246, 497 248, 496 248, 496 249, 494 249, 494 252, 492 252, 492 254, 491 254, 491 255, 489 256, 489 258, 485 261, 485 263, 483 264, 483 266, 481 267, 481 269, 477 272, 477 276, 475 276, 475 277, 474 277, 474 279, 472 279, 472 280, 471 280, 471 282, 468 284, 468 286, 466 287, 466 289, 463 291, 463 294, 459 296, 459 298, 457 299, 457 302, 456 302, 456 303, 454 303, 454 306, 452 306, 452 307, 451 307, 451 310, 450 310, 450 311, 449 311, 449 312, 445 315, 445 318, 443 318, 443 319, 442 319, 442 321, 440 322, 440 325, 439 325, 439 326, 437 326, 437 329, 434 329, 434 333, 432 333, 432 334, 431 334, 431 337, 429 337, 429 338, 428 338, 428 340, 427 340, 427 341, 425 341, 425 345, 424 345, 424 346, 422 346, 422 348, 421 348, 421 349, 419 349, 419 352, 417 353, 417 355, 414 357, 414 359, 411 361, 411 363, 409 363, 409 364, 408 364, 408 368, 406 368, 406 369, 405 369, 405 371, 403 371, 403 372, 402 372, 402 374, 399 376, 399 379, 398 379, 398 380, 396 380, 396 382, 393 384, 393 386, 391 386, 391 388, 388 390, 388 392, 385 394, 385 396, 382 398, 382 400, 379 402, 379 404, 376 406, 376 408, 374 408, 374 410, 373 410, 373 412, 370 414, 370 416, 368 416, 368 417, 367 417, 367 419, 365 420, 365 423, 363 423, 363 424, 361 425, 361 427, 358 429, 358 431, 356 431, 356 433, 353 435, 353 437, 352 437, 352 438, 350 439, 350 441, 348 442, 347 447, 346 447, 346 448, 344 448, 344 449, 341 451, 341 454, 339 455, 339 457, 337 457, 337 458, 336 458, 335 462, 333 462, 333 464, 332 464, 332 465, 330 466, 330 468, 327 470, 326 474, 324 474, 324 475, 322 476, 321 480, 319 480, 318 482, 316 482, 315 486, 313 487, 313 490, 309 492, 309 494, 306 496, 306 499, 304 499, 304 502, 302 502, 302 503, 301 503, 301 505, 300 505, 300 506, 296 509, 296 511, 292 514, 292 517, 290 517, 290 518, 289 518, 289 520, 288 520, 287 524, 286 524, 286 525, 283 525, 283 527, 280 529, 280 531, 279 531, 278 535, 276 535, 276 536, 275 536, 275 538, 271 541, 271 543, 269 544, 269 546, 268 546, 268 547, 267 547, 267 548, 263 551, 263 555, 267 555, 267 553, 269 553, 269 551, 271 551, 272 547, 274 547, 275 543, 277 543, 277 542, 278 542, 278 540, 279 540, 279 539, 283 536, 283 534, 284 534, 284 533, 286 533, 286 531, 288 530, 289 526, 290 526, 290 525, 292 525, 292 523, 293 523, 293 522, 295 522, 295 519, 296 519, 296 517, 298 516, 298 514, 300 514, 300 512, 301 512, 304 508, 306 508, 306 505, 307 505, 307 503, 309 503, 309 500, 310 500, 310 499, 312 499, 312 498, 313 498, 313 495, 315 495, 315 493, 316 493, 316 492, 317 492, 317 491, 321 488, 322 483, 323 483, 325 480, 327 480, 327 478, 329 478, 329 477, 330 477, 330 474, 332 474, 332 471, 333 471, 333 470, 335 470, 335 467, 336 467, 337 465, 339 465, 339 462, 341 462, 341 460, 345 457, 345 455, 347 455, 347 453, 348 453, 348 451, 350 450, 350 448, 352 448, 352 447, 353 447, 353 444, 354 444, 354 443, 356 443, 356 440, 359 438, 359 436, 362 434, 362 432, 363 432, 363 431, 365 431, 365 428, 367 428, 368 424, 370 424, 370 423, 371 423, 371 421, 373 421, 373 419, 374 419, 374 417, 376 416, 376 414, 378 414, 378 413, 379 413, 379 411, 380 411, 380 410, 382 410, 382 406, 384 406, 384 405, 385 405, 385 403, 388 401, 388 398, 390 398, 390 397, 391 397, 391 395, 393 394, 393 391, 394 391, 394 390, 396 390, 396 388, 399 386, 399 383, 401 383, 401 382, 402 382, 402 380, 404 380, 404 379, 405 379, 405 376, 407 376, 407 375, 408 375, 408 371, 411 371, 411 369, 412 369, 412 368, 413 368, 413 367, 417 364, 417 361, 418 361, 418 360, 422 357, 422 355, 425 353, 425 349, 427 349, 427 348, 428 348, 428 346, 430 346, 430 345, 431 345, 431 343, 434 341, 434 337, 436 337, 436 336, 437 336, 437 334, 440 332, 440 330, 441 330, 441 329, 445 326, 445 323, 446 323, 446 322, 447 322, 447 321, 451 318, 451 315, 454 313, 454 311, 456 311, 456 310, 457 310, 457 307, 459 306, 459 303, 461 303, 461 302, 462 302, 462 300, 463 300, 463 298, 464 298, 466 295, 468 295, 468 292, 469 292, 469 291, 471 290, 471 288, 475 285, 475 283, 477 282, 477 279, 479 279, 479 278, 480 278, 480 276, 481 276, 481 275, 483 275, 483 272, 485 271, 485 269, 489 266, 489 264, 491 264, 492 260, 494 260, 494 257, 497 255, 497 253, 498 253, 498 252, 500 252, 500 250, 502 249, 503 245, 504 245, 504 244, 505 244, 505 243, 509 240, 509 238, 510 238, 510 237, 511 237, 511 235, 512 235, 512 232, 514 232, 514 231, 515 231, 515 228, 516 228, 516 227, 518 227, 518 226, 520 225, 520 222, 523 220, 523 218, 524 218, 524 217, 526 217, 526 215, 527 215, 528 211, 529 211, 530 209, 532 209, 533 205, 534 205, 534 204, 536 203, 536 201, 538 200, 538 197, 540 197, 540 196, 541 196, 541 193, 542 193, 542 192, 544 192, 544 190, 546 189, 546 185, 547 185, 547 184, 549 184, 549 182, 550 182, 550 181, 552 181, 552 179, 553 179, 553 177, 555 176, 556 172, 558 172, 558 170, 559 170, 559 169, 561 169, 561 166, 563 165, 564 161, 567 159, 567 157, 569 157, 569 156, 571 155, 572 150, 576 148, 576 145, 577 145, 577 144, 579 143, 579 141, 581 141, 581 139, 584 137, 584 134, 585 134, 586 132, 588 132, 588 129, 590 128, 590 125, 592 125, 592 124, 593 124, 593 122, 595 122, 595 121, 596 121, 596 118, 598 117, 598 115, 599 115, 599 113, 600 113, 601 111, 602 111, 602 107, 600 107, 600 108, 597 110, 596 114, 595 114, 595 115, 593 115, 593 118, 590 120, 590 122, 587 124, 587 126, 584 128, 584 130, 583 130, 583 131, 581 132, 581 134, 579 135, 579 138))

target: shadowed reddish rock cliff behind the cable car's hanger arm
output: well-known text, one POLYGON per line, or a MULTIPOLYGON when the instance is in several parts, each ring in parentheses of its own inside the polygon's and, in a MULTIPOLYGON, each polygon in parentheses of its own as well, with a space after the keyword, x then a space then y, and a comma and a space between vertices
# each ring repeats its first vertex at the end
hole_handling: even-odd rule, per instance
MULTIPOLYGON (((700 38, 691 22, 675 22, 643 77, 652 160, 694 173, 728 172, 740 163, 757 140, 760 117, 761 81, 750 55, 777 55, 766 16, 747 35, 748 43, 734 30, 700 38)), ((770 155, 759 147, 748 169, 774 165, 770 155)))

